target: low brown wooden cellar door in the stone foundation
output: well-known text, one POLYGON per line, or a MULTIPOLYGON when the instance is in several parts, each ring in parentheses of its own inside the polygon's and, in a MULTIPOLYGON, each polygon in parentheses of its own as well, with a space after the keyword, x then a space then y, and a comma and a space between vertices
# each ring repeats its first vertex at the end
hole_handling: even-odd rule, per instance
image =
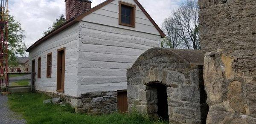
POLYGON ((122 113, 127 112, 128 110, 128 103, 127 103, 127 92, 117 92, 117 106, 118 110, 122 113))

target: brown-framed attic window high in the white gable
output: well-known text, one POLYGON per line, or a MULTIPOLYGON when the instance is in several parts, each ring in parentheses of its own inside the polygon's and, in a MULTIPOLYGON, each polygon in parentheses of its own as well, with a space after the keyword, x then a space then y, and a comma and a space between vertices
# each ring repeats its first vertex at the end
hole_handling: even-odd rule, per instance
POLYGON ((119 1, 119 25, 135 27, 135 5, 119 1))

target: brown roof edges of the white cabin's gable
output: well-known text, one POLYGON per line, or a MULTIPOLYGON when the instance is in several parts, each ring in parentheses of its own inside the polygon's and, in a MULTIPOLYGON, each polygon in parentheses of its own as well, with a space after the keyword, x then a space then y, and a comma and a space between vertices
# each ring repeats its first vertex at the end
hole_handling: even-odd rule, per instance
MULTIPOLYGON (((102 8, 103 6, 106 6, 108 3, 113 2, 114 0, 106 0, 103 3, 100 3, 99 5, 91 8, 87 12, 84 12, 76 17, 71 18, 70 20, 67 20, 66 23, 58 27, 57 29, 53 30, 52 32, 49 32, 47 35, 36 41, 34 44, 32 44, 28 49, 26 49, 26 52, 29 52, 31 49, 35 48, 38 44, 44 42, 45 40, 49 39, 50 37, 58 34, 59 32, 63 31, 64 29, 67 29, 68 27, 72 26, 73 24, 81 21, 85 16, 88 14, 91 14, 92 12, 95 12, 96 10, 102 8)), ((155 23, 155 21, 152 19, 152 17, 146 12, 146 10, 143 8, 143 6, 140 4, 138 0, 134 0, 134 2, 140 7, 140 9, 143 11, 143 13, 148 17, 148 19, 153 23, 153 25, 156 27, 157 31, 160 33, 161 37, 165 37, 166 35, 163 33, 163 31, 160 29, 160 27, 155 23)))

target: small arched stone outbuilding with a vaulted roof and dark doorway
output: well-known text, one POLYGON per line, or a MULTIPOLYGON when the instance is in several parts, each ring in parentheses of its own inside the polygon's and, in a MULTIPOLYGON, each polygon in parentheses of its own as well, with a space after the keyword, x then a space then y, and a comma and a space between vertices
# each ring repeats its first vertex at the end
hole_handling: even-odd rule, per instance
POLYGON ((167 109, 170 123, 205 123, 203 64, 204 53, 198 50, 149 49, 127 70, 128 112, 164 119, 167 109))

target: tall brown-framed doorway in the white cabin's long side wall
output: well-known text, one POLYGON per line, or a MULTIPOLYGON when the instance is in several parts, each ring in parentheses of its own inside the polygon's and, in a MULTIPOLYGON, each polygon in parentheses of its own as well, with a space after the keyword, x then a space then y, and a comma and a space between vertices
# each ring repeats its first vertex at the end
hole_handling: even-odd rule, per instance
POLYGON ((64 92, 65 48, 58 49, 57 56, 57 91, 64 92))

